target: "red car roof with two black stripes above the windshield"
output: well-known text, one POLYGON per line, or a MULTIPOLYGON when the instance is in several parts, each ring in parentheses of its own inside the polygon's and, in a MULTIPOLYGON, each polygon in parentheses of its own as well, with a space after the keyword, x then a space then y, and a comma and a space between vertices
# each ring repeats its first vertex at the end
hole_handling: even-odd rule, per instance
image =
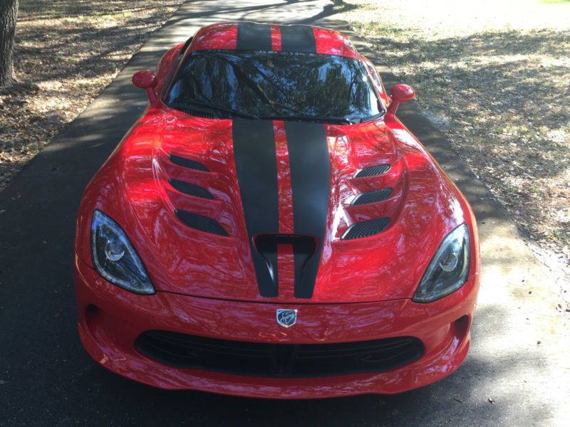
POLYGON ((276 23, 214 23, 200 29, 187 53, 226 49, 237 51, 289 51, 359 58, 348 37, 316 26, 276 23))

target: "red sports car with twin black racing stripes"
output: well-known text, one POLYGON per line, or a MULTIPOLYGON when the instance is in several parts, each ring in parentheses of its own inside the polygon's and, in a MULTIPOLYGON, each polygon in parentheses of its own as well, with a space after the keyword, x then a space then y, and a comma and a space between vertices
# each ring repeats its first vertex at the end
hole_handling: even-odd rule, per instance
POLYGON ((346 36, 217 23, 133 83, 148 105, 78 214, 81 342, 163 389, 393 394, 460 366, 469 204, 346 36))

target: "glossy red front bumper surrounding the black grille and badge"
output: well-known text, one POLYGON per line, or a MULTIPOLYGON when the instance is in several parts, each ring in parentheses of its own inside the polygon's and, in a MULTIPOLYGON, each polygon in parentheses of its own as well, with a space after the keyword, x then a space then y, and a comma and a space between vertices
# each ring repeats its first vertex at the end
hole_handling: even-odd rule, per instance
POLYGON ((430 304, 411 300, 353 304, 276 305, 213 300, 157 292, 135 295, 108 283, 76 256, 78 330, 83 346, 103 367, 162 389, 194 389, 275 399, 353 394, 395 394, 442 379, 467 355, 479 275, 430 304), (299 310, 294 327, 275 321, 276 308, 299 310), (266 378, 182 369, 135 349, 147 330, 169 330, 247 342, 315 344, 412 336, 425 353, 417 361, 381 373, 266 378))

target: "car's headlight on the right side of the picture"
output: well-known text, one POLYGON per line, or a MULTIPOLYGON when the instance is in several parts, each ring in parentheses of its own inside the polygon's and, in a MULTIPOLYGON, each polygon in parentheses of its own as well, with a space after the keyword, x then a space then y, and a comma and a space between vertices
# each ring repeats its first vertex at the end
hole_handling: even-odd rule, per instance
POLYGON ((443 239, 412 298, 432 302, 462 287, 469 273, 469 231, 463 224, 443 239))

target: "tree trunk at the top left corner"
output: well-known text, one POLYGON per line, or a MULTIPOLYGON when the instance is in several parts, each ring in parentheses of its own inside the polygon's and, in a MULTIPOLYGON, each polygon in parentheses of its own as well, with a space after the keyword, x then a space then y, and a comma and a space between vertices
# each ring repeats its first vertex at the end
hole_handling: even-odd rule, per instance
POLYGON ((14 30, 18 0, 0 0, 0 88, 14 82, 14 30))

